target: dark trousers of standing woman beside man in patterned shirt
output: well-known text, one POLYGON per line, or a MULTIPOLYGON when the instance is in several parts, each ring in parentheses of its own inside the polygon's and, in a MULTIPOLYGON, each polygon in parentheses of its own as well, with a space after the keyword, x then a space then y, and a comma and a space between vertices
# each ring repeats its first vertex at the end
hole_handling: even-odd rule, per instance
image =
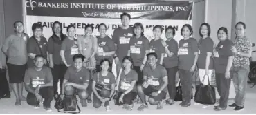
POLYGON ((225 74, 223 73, 215 73, 215 78, 216 78, 217 91, 219 93, 219 96, 221 97, 219 99, 219 106, 226 108, 228 104, 231 78, 226 79, 225 74))

